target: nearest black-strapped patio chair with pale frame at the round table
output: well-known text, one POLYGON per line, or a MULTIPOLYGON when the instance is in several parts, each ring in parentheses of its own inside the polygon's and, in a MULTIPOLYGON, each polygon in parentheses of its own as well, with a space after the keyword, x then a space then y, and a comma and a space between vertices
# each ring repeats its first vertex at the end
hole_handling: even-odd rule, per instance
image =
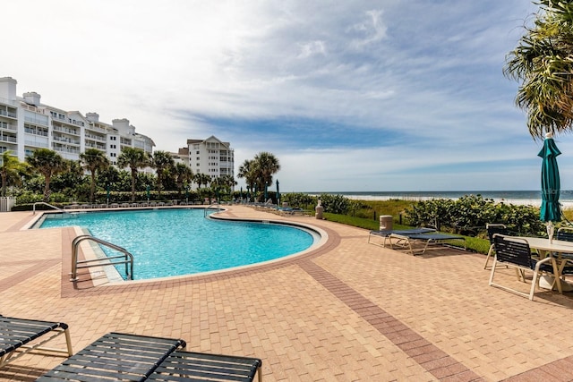
POLYGON ((495 257, 493 258, 492 273, 490 275, 490 286, 529 297, 529 300, 534 301, 535 285, 539 286, 539 276, 541 276, 541 272, 553 273, 553 269, 557 268, 555 259, 552 256, 548 256, 544 259, 535 259, 532 257, 531 249, 526 240, 517 237, 509 237, 495 233, 493 235, 493 244, 495 245, 495 257), (511 289, 508 286, 495 284, 493 282, 493 276, 499 263, 509 267, 515 267, 520 271, 533 271, 534 276, 531 280, 529 293, 523 293, 511 289))

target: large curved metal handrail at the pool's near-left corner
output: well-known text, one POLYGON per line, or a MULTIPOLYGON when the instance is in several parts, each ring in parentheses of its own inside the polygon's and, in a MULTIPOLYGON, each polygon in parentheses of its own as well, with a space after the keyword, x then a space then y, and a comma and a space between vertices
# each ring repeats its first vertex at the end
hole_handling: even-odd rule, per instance
POLYGON ((82 234, 80 236, 76 236, 72 242, 72 273, 70 281, 78 281, 78 269, 85 268, 85 267, 103 267, 103 266, 110 266, 110 265, 117 265, 117 264, 125 264, 125 275, 129 277, 130 280, 133 280, 133 255, 125 250, 122 247, 119 247, 111 242, 106 242, 104 240, 98 239, 97 237, 91 236, 90 234, 82 234), (92 242, 97 242, 98 244, 105 245, 112 250, 117 250, 122 252, 123 255, 111 256, 101 259, 89 259, 89 260, 81 260, 78 261, 78 246, 80 242, 84 240, 90 240, 92 242), (113 259, 124 259, 124 260, 117 260, 111 261, 113 259), (129 265, 129 268, 128 268, 129 265))

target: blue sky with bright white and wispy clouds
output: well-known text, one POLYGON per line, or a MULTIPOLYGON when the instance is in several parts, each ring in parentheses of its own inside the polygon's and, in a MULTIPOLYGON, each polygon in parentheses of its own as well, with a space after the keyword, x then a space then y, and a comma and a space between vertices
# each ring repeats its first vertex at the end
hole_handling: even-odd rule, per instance
MULTIPOLYGON (((543 141, 503 76, 527 0, 29 0, 3 4, 0 77, 156 150, 271 152, 280 191, 540 188, 543 141)), ((573 189, 573 136, 555 137, 573 189)), ((237 179, 238 186, 244 185, 237 179)))

